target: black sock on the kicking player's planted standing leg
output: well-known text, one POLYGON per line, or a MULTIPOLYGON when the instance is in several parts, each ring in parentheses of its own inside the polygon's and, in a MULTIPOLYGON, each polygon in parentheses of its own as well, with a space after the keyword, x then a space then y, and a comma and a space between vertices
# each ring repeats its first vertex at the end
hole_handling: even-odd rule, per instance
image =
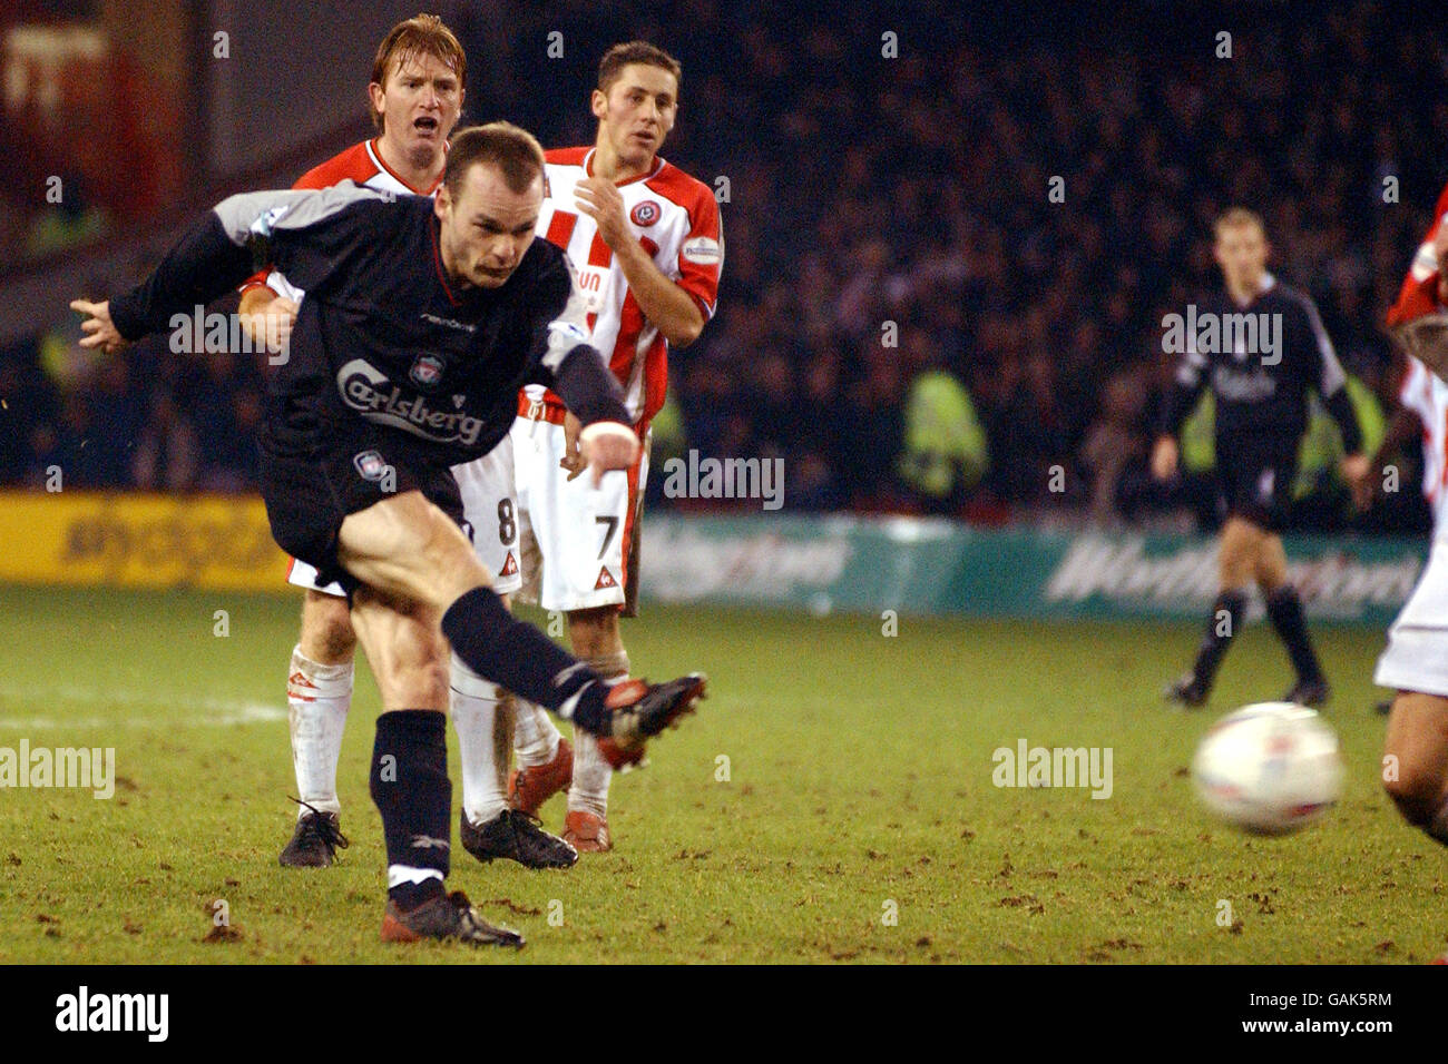
POLYGON ((369 783, 387 840, 387 896, 400 909, 446 893, 452 845, 446 725, 446 715, 432 709, 392 709, 376 718, 369 783))

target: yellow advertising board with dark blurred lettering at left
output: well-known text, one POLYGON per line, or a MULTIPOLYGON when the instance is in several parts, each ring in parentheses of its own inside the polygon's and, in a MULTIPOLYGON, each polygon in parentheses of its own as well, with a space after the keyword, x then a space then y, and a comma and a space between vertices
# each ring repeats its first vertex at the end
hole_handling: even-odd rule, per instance
POLYGON ((287 556, 249 495, 0 492, 0 582, 281 591, 287 556))

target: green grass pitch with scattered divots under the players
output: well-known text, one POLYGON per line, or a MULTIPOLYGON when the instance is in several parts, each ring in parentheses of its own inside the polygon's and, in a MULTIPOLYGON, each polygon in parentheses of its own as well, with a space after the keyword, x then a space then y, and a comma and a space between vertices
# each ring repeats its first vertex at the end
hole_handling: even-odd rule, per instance
MULTIPOLYGON (((617 850, 536 873, 481 866, 455 843, 452 886, 527 935, 515 955, 378 942, 365 669, 340 772, 352 847, 324 871, 278 867, 295 624, 287 596, 0 591, 0 747, 114 747, 119 777, 110 801, 0 790, 0 961, 1371 963, 1444 950, 1445 854, 1377 782, 1378 631, 1316 631, 1344 801, 1300 835, 1254 840, 1206 818, 1186 766, 1215 717, 1287 688, 1264 627, 1238 640, 1212 706, 1186 714, 1158 692, 1196 625, 905 617, 885 637, 872 617, 649 607, 626 625, 636 667, 704 669, 711 698, 649 769, 615 777, 617 850), (1111 798, 993 786, 992 751, 1022 738, 1111 747, 1111 798)), ((456 780, 450 727, 449 748, 456 780)), ((455 824, 458 798, 455 783, 455 824)), ((562 799, 543 814, 560 829, 562 799)))

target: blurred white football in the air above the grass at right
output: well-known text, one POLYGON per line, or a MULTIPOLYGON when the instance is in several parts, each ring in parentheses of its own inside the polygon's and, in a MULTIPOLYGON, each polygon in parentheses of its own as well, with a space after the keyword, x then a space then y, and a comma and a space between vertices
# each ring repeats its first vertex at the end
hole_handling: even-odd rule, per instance
POLYGON ((1316 712, 1258 702, 1228 714, 1192 759, 1197 798, 1257 835, 1286 835, 1319 819, 1342 793, 1338 737, 1316 712))

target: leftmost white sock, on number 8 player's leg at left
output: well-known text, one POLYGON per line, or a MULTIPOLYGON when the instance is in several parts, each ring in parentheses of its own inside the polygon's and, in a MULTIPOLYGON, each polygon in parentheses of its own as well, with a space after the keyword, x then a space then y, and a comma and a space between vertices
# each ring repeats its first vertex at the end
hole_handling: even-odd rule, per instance
MULTIPOLYGON (((352 705, 352 663, 320 664, 301 647, 291 651, 287 677, 287 721, 291 727, 291 761, 297 770, 297 798, 324 812, 342 812, 337 801, 337 759, 342 731, 352 705)), ((297 806, 297 818, 310 811, 297 806)))

